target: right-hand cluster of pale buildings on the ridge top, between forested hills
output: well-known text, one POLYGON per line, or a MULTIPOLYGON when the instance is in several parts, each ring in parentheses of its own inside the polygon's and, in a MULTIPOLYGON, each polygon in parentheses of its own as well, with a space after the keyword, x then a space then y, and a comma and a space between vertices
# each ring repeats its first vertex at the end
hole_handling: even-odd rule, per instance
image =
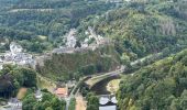
POLYGON ((53 53, 62 54, 81 52, 86 50, 95 51, 97 47, 110 43, 109 38, 96 34, 95 30, 89 26, 88 30, 85 32, 86 36, 88 37, 86 37, 82 42, 80 42, 80 45, 77 46, 77 42, 79 41, 77 40, 76 33, 76 29, 72 29, 69 33, 65 35, 66 45, 54 48, 53 53))

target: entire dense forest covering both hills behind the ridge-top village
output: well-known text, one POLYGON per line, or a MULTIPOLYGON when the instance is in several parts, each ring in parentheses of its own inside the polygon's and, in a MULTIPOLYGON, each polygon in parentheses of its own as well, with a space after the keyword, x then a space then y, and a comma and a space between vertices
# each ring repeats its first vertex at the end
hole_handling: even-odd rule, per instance
POLYGON ((130 59, 186 46, 183 0, 133 0, 119 8, 105 0, 1 2, 0 40, 6 43, 1 52, 8 50, 10 41, 18 41, 29 52, 41 53, 64 45, 63 36, 73 28, 78 30, 78 40, 84 40, 88 26, 114 40, 116 50, 130 59))

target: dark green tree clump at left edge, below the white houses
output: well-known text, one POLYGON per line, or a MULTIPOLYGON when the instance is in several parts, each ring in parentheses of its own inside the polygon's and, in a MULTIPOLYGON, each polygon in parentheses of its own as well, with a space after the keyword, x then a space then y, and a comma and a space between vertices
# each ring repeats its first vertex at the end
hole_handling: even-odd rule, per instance
POLYGON ((0 72, 0 97, 15 96, 20 87, 36 87, 36 72, 4 65, 0 72))

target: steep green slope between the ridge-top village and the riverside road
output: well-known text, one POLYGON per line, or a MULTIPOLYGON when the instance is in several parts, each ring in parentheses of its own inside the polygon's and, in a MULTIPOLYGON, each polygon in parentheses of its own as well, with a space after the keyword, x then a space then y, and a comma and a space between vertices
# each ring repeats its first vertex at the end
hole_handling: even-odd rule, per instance
POLYGON ((120 57, 113 46, 74 54, 54 54, 52 59, 38 66, 37 72, 55 80, 78 79, 82 75, 105 73, 120 66, 120 57))

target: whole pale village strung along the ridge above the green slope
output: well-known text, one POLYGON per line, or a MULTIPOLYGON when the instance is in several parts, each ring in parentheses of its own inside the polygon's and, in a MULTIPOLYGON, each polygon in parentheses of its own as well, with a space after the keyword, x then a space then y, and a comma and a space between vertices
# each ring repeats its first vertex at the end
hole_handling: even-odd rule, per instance
POLYGON ((88 28, 88 31, 86 31, 85 34, 88 37, 86 37, 85 41, 80 43, 79 47, 76 47, 76 30, 72 29, 69 33, 65 35, 66 45, 54 48, 52 52, 45 53, 44 55, 40 56, 33 56, 32 54, 24 53, 21 45, 12 42, 10 44, 10 51, 7 51, 6 53, 0 53, 0 69, 2 69, 4 64, 16 64, 19 66, 30 66, 32 68, 35 68, 36 64, 41 63, 41 59, 45 58, 45 56, 47 55, 62 53, 70 54, 75 52, 84 52, 86 50, 95 51, 97 47, 110 43, 109 38, 97 35, 92 28, 88 28), (92 40, 94 42, 89 44, 89 42, 92 40))

